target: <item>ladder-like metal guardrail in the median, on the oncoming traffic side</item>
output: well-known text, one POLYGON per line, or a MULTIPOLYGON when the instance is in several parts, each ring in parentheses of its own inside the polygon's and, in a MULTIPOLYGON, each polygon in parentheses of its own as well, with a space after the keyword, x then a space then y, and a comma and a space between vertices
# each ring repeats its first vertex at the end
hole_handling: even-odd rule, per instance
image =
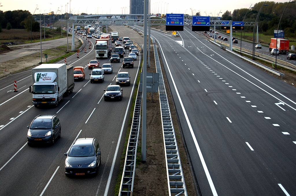
POLYGON ((141 99, 142 93, 138 90, 135 108, 133 110, 133 122, 131 125, 131 132, 129 135, 128 145, 126 148, 126 158, 124 162, 124 168, 118 194, 119 196, 133 195, 133 181, 135 177, 137 146, 141 123, 141 99))

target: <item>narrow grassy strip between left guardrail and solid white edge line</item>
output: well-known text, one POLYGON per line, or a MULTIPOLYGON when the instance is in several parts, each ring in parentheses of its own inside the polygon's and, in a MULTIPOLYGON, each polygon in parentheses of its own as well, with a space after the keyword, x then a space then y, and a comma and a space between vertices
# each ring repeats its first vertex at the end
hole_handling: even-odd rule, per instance
MULTIPOLYGON (((116 184, 115 184, 115 189, 114 189, 114 196, 117 196, 119 193, 119 189, 120 189, 120 183, 121 183, 121 178, 122 178, 122 173, 123 173, 123 167, 124 167, 124 161, 126 158, 126 148, 128 146, 128 139, 129 139, 129 134, 131 131, 131 124, 133 122, 133 110, 135 108, 135 103, 136 103, 136 98, 137 98, 137 92, 138 92, 138 88, 139 88, 139 82, 140 82, 140 73, 142 70, 142 65, 143 65, 143 59, 141 59, 141 64, 140 64, 140 71, 138 73, 137 76, 137 80, 136 80, 136 87, 135 87, 135 92, 133 94, 133 99, 132 99, 132 104, 131 104, 131 112, 130 112, 130 116, 129 116, 129 120, 128 120, 128 129, 126 131, 126 139, 124 142, 124 146, 123 146, 123 152, 120 158, 120 167, 119 167, 119 171, 118 171, 118 176, 116 178, 116 184)), ((137 153, 141 152, 141 146, 137 147, 137 153), (139 151, 140 149, 140 151, 139 151)))

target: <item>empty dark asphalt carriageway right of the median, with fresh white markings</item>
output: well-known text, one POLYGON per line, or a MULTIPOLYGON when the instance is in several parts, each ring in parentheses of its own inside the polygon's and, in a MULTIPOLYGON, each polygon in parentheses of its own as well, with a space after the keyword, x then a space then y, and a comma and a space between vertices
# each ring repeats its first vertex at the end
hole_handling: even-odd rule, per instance
POLYGON ((185 27, 157 39, 202 195, 296 195, 296 91, 185 27))

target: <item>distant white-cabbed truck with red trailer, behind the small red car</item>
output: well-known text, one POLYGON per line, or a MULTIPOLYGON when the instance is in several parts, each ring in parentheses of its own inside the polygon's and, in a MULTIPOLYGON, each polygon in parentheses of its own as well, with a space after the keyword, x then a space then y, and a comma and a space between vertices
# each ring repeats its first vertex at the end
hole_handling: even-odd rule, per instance
POLYGON ((96 59, 108 58, 112 52, 112 39, 100 38, 96 39, 96 59))

